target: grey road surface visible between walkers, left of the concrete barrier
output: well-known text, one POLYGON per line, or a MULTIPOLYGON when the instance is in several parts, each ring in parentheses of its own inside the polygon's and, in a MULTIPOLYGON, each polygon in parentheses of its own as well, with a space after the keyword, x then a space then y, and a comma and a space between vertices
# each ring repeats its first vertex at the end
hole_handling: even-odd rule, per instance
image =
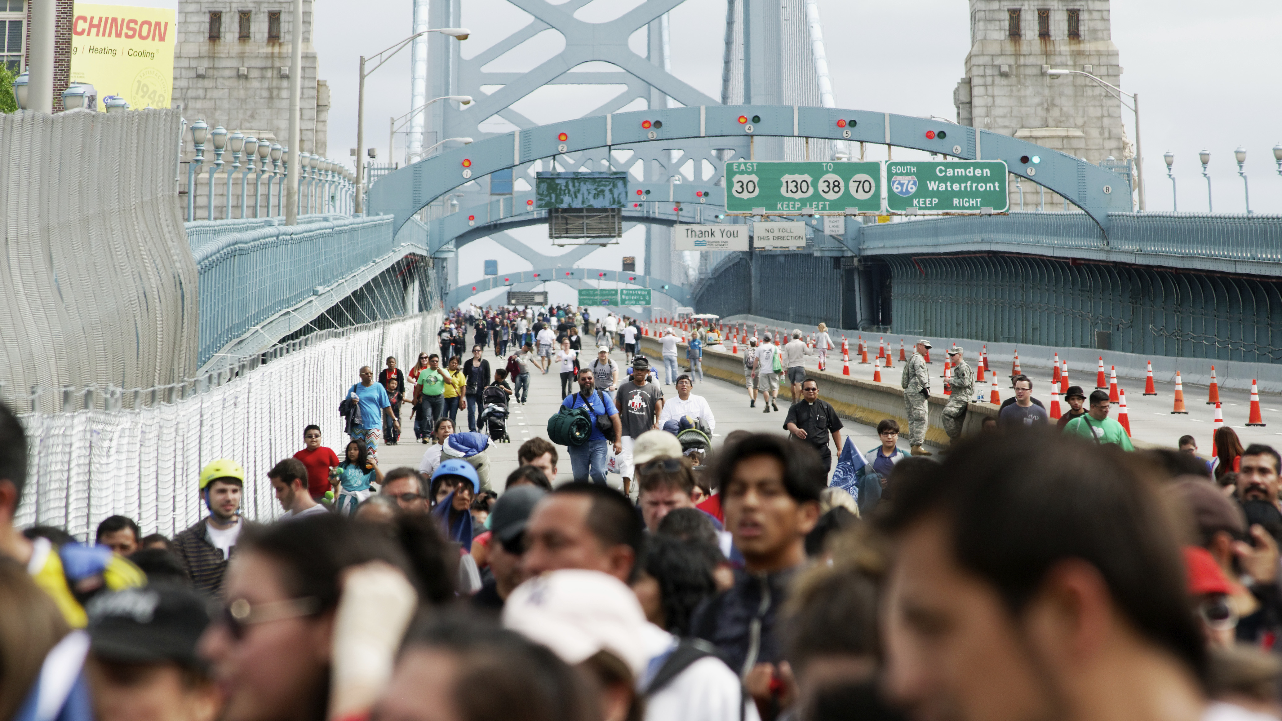
MULTIPOLYGON (((490 364, 494 365, 494 348, 488 350, 490 355, 487 357, 490 359, 490 364)), ((614 359, 614 362, 619 364, 622 374, 624 368, 623 353, 617 350, 610 357, 614 359)), ((547 438, 547 417, 555 414, 560 405, 560 374, 555 366, 546 375, 538 373, 537 369, 533 370, 529 380, 528 403, 524 406, 512 403, 513 412, 508 424, 508 434, 512 437, 512 443, 495 443, 490 450, 491 462, 494 464, 490 471, 490 480, 495 490, 500 493, 503 492, 503 479, 517 467, 517 448, 520 443, 531 438, 547 438)), ((672 385, 664 385, 663 391, 665 396, 674 396, 677 392, 672 385)), ((713 438, 714 447, 720 446, 726 434, 732 430, 783 433, 783 419, 787 416, 786 401, 779 403, 779 412, 763 412, 760 402, 758 402, 755 409, 749 409, 747 392, 742 385, 733 385, 712 377, 708 377, 703 383, 696 382, 694 393, 706 398, 713 409, 713 414, 717 416, 717 429, 713 438)), ((459 421, 465 430, 467 411, 459 411, 459 421)), ((408 405, 401 406, 401 429, 408 433, 408 441, 405 439, 405 433, 403 433, 403 442, 399 446, 385 446, 378 450, 378 465, 385 473, 396 466, 418 467, 418 462, 423 457, 423 451, 427 450, 427 446, 414 443, 413 441, 414 433, 409 420, 408 405)), ((850 421, 846 429, 853 434, 851 438, 855 446, 862 450, 872 448, 877 443, 877 432, 870 426, 850 421)), ((842 434, 845 435, 845 432, 842 434)), ((559 453, 560 462, 556 467, 555 484, 572 480, 569 456, 565 455, 565 448, 560 447, 559 453)), ((612 487, 622 489, 622 479, 618 475, 610 474, 608 480, 612 487)), ((632 494, 633 497, 636 496, 636 485, 633 485, 632 494)))

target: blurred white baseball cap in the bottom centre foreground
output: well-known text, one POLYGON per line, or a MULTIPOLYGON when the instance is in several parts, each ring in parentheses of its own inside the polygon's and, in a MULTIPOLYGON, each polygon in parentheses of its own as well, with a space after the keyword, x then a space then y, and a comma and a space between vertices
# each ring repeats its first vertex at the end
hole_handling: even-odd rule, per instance
POLYGON ((532 578, 508 597, 503 625, 570 666, 608 651, 645 672, 645 612, 631 588, 601 571, 565 569, 532 578))

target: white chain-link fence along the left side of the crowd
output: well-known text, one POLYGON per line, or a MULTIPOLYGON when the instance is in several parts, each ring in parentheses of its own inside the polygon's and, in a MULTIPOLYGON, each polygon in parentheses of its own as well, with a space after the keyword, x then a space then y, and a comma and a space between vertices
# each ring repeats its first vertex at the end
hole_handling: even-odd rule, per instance
POLYGON ((359 382, 360 366, 377 370, 387 356, 415 359, 431 347, 440 321, 435 310, 322 330, 181 388, 131 393, 142 402, 129 409, 121 409, 118 392, 106 393, 104 406, 119 410, 91 403, 67 411, 81 393, 64 396, 63 412, 24 412, 46 403, 6 398, 22 414, 31 450, 17 525, 58 526, 86 539, 103 519, 121 514, 144 533, 172 537, 206 514, 197 480, 217 458, 245 466, 245 516, 272 520, 282 511, 267 471, 303 448, 303 428, 314 423, 331 447, 341 444, 338 402, 359 382), (171 402, 147 405, 153 397, 171 402))

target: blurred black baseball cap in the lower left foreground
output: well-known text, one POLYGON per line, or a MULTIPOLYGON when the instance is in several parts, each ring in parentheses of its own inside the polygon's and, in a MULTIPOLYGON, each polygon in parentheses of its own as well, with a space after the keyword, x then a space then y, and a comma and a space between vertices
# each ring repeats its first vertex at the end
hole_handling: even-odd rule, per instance
POLYGON ((205 601, 186 588, 151 584, 101 593, 86 612, 90 649, 100 658, 205 667, 196 644, 209 625, 209 611, 205 601))

